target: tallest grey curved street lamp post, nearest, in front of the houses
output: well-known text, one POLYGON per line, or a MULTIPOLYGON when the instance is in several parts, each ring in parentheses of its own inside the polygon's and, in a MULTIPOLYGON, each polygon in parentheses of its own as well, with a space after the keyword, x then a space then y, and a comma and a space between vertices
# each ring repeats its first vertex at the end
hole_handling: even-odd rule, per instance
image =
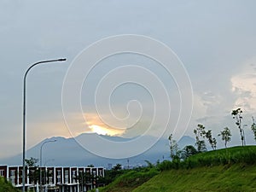
POLYGON ((26 76, 27 73, 32 69, 32 67, 35 67, 39 64, 48 63, 48 62, 56 62, 56 61, 66 61, 66 59, 57 59, 57 60, 47 60, 47 61, 38 61, 34 64, 32 64, 31 67, 28 67, 26 70, 26 73, 24 74, 23 78, 23 155, 22 155, 22 192, 25 192, 25 158, 26 158, 26 76))

